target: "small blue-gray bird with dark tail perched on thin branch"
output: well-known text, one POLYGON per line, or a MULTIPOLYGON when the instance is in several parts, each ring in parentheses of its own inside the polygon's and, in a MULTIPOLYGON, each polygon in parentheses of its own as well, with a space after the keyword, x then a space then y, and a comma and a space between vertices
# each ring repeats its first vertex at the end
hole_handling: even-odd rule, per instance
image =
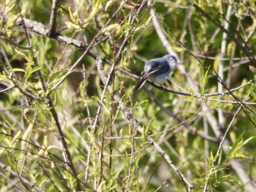
POLYGON ((163 84, 166 77, 176 68, 177 58, 171 54, 148 61, 144 66, 144 71, 141 74, 140 82, 132 90, 132 93, 137 92, 143 84, 149 79, 153 83, 163 84))

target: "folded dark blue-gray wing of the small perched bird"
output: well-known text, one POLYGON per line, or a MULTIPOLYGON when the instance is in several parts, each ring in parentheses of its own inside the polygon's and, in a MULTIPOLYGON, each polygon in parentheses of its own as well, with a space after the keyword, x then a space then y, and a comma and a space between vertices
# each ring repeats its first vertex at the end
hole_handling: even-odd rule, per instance
POLYGON ((169 65, 167 61, 161 61, 161 65, 158 61, 150 60, 148 61, 147 65, 152 66, 150 70, 147 72, 144 72, 144 77, 151 77, 151 76, 158 76, 160 74, 164 74, 165 72, 168 72, 169 65))

